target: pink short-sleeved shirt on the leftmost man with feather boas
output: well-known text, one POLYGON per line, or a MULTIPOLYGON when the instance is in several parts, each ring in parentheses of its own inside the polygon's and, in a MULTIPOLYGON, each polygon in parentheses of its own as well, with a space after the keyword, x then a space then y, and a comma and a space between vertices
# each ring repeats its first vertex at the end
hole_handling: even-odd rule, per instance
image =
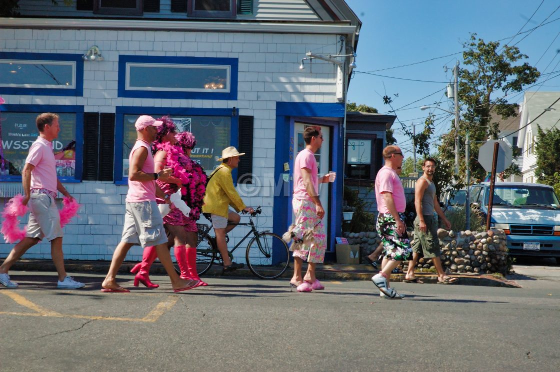
POLYGON ((31 189, 57 192, 57 162, 50 141, 38 137, 31 145, 25 162, 35 167, 31 171, 31 189))

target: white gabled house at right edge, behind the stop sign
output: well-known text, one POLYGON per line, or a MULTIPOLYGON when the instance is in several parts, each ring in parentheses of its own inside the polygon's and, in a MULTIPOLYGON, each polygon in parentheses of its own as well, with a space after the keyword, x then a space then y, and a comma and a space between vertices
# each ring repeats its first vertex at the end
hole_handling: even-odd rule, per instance
POLYGON ((522 181, 535 183, 537 125, 545 132, 560 129, 560 92, 525 92, 519 111, 517 147, 522 148, 522 181))

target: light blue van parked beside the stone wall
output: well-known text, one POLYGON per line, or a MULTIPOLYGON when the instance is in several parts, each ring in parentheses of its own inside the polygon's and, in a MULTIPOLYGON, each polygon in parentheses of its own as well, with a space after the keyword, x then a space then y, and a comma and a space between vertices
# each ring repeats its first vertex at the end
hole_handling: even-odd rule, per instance
MULTIPOLYGON (((486 221, 490 182, 470 188, 470 200, 486 221)), ((554 257, 560 264, 560 202, 540 183, 496 182, 491 226, 503 229, 512 256, 554 257)))

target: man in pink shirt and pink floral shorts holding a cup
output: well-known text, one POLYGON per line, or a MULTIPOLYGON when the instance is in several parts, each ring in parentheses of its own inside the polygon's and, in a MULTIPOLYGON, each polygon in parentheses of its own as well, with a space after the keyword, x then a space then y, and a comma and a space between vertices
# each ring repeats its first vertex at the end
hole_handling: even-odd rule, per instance
POLYGON ((290 286, 298 292, 324 289, 315 277, 315 266, 325 258, 326 235, 323 226, 325 210, 319 199, 319 183, 334 182, 335 174, 328 173, 318 178, 315 152, 323 144, 319 126, 309 126, 304 131, 305 149, 297 154, 293 169, 292 209, 296 222, 291 228, 294 265, 290 286), (301 276, 301 267, 307 260, 307 273, 301 276))

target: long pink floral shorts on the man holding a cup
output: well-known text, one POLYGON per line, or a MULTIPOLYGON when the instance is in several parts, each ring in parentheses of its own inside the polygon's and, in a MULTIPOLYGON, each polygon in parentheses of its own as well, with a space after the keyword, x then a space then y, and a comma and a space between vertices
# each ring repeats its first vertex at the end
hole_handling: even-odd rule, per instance
MULTIPOLYGON (((292 199, 293 213, 296 215, 295 225, 304 233, 313 229, 313 242, 309 245, 303 244, 300 249, 293 251, 293 257, 312 263, 322 263, 325 260, 326 234, 323 222, 315 213, 315 204, 311 200, 292 199)), ((296 236, 298 234, 296 233, 296 236)))

